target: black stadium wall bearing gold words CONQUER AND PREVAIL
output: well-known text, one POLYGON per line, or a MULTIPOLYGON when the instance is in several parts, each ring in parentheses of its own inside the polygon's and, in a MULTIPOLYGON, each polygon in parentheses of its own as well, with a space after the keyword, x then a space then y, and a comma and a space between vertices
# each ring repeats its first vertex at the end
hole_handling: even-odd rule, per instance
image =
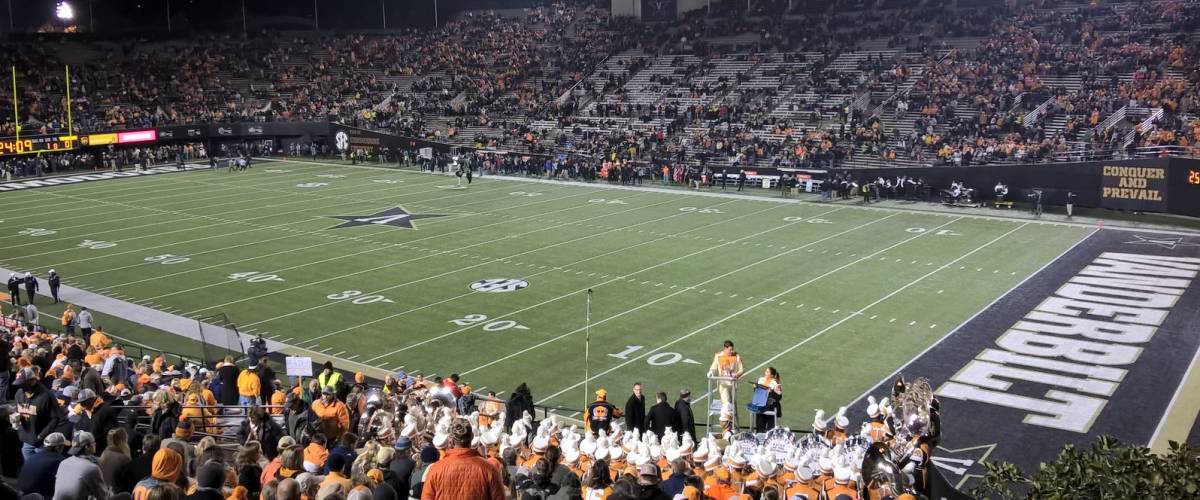
POLYGON ((983 199, 991 195, 997 182, 1004 182, 1009 199, 1014 193, 1020 200, 1033 189, 1042 189, 1044 203, 1062 205, 1070 192, 1079 206, 1200 216, 1200 159, 1190 158, 835 169, 834 173, 860 180, 914 176, 935 189, 961 181, 982 193, 983 199))

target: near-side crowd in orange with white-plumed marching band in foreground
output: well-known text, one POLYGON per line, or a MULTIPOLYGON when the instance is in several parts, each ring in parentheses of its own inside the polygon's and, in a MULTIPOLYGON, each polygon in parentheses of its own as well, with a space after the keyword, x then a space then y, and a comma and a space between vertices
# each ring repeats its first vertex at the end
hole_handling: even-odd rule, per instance
MULTIPOLYGON (((331 362, 288 381, 265 350, 211 365, 139 357, 86 308, 67 307, 61 321, 16 311, 0 318, 2 498, 775 500, 870 489, 914 499, 906 492, 928 492, 937 442, 923 379, 869 398, 860 427, 846 408, 829 418, 817 411, 803 439, 761 420, 757 432, 786 450, 748 450, 732 421, 698 432, 686 390, 672 405, 637 384, 617 406, 601 388, 580 427, 534 420, 524 384, 500 399, 457 374, 371 380, 331 362), (58 323, 65 333, 42 326, 58 323), (918 408, 923 427, 904 417, 918 408), (902 430, 893 432, 893 416, 902 430), (864 476, 872 442, 912 466, 894 481, 864 476), (902 452, 884 447, 893 445, 902 452)), ((731 356, 726 344, 714 367, 731 356)), ((757 384, 778 408, 778 372, 757 384)))

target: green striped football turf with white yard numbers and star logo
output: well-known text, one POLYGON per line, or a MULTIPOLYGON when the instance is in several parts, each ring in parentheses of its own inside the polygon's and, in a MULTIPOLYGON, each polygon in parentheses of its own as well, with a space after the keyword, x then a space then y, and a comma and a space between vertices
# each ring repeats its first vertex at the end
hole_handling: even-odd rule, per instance
MULTIPOLYGON (((623 402, 644 381, 652 392, 690 387, 702 398, 704 369, 730 338, 755 375, 779 369, 782 422, 803 427, 811 409, 853 399, 1091 233, 602 185, 485 177, 444 187, 454 182, 259 162, 239 174, 6 193, 0 264, 54 267, 72 285, 190 317, 224 313, 244 331, 376 368, 456 372, 494 390, 526 381, 539 402, 572 408, 584 400, 590 288, 589 388, 623 402), (298 187, 308 182, 325 185, 298 187), (415 221, 415 230, 330 229, 343 222, 332 216, 395 206, 444 217, 415 221), (19 234, 26 228, 55 233, 19 234), (170 255, 187 260, 146 261, 170 255), (244 272, 282 281, 230 279, 244 272), (530 285, 469 289, 485 278, 530 285), (388 301, 328 299, 344 290, 388 301), (452 323, 472 314, 487 320, 452 323), (496 323, 505 320, 524 329, 496 323)), ((175 342, 128 330, 149 345, 175 342)))

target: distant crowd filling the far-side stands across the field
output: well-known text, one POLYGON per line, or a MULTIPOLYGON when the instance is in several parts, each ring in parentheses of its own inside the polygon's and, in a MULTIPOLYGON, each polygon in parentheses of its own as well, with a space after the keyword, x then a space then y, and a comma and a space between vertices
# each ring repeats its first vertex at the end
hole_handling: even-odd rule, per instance
MULTIPOLYGON (((469 12, 432 31, 224 35, 83 50, 60 41, 24 44, 0 62, 17 68, 24 133, 65 128, 61 67, 82 52, 72 66, 77 131, 336 120, 655 169, 1045 161, 1200 139, 1189 126, 1200 84, 1188 38, 1200 25, 1194 0, 929 1, 887 11, 800 2, 786 12, 790 5, 644 25, 559 0, 517 14, 469 12), (977 42, 946 44, 962 37, 977 42), (835 65, 864 41, 888 50, 835 65), (769 66, 762 76, 773 84, 752 84, 752 74, 708 78, 731 60, 769 66), (652 98, 631 98, 636 92, 652 98), (1128 131, 1146 113, 1105 121, 1126 107, 1164 116, 1136 132, 1128 131)), ((0 96, 0 110, 8 101, 0 96)), ((0 133, 14 132, 2 116, 0 133)))

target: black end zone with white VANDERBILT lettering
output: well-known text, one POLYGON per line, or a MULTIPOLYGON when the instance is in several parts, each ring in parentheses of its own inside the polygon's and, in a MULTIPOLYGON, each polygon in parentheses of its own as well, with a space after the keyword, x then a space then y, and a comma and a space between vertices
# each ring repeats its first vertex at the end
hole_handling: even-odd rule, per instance
POLYGON ((935 465, 962 487, 983 462, 1034 472, 1102 434, 1156 451, 1187 440, 1198 283, 1200 237, 1102 229, 1009 290, 899 371, 937 388, 935 465))

